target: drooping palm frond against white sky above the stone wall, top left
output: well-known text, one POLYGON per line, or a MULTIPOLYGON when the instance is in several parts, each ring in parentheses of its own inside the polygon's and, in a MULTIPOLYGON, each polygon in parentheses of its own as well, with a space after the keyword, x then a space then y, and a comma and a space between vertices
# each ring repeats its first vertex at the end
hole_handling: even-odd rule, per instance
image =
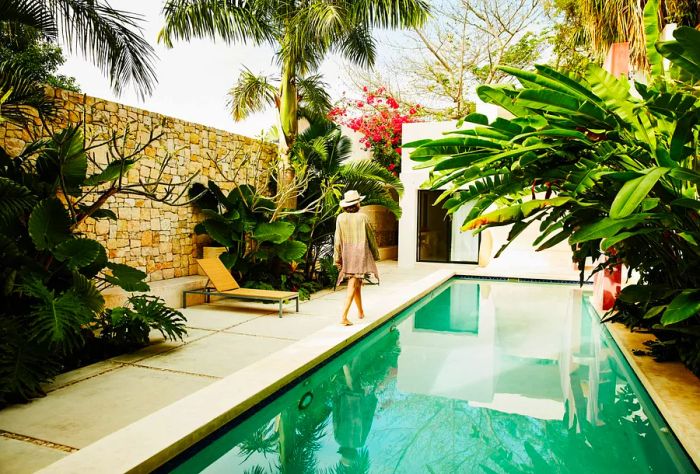
POLYGON ((69 51, 79 51, 108 74, 120 93, 132 84, 144 97, 156 83, 155 51, 142 37, 141 16, 97 0, 44 0, 69 51))

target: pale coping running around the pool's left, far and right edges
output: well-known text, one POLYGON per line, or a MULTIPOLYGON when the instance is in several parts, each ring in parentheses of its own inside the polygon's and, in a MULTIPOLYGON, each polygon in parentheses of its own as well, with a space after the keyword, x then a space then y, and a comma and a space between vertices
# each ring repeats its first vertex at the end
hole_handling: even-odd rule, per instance
MULTIPOLYGON (((326 327, 320 331, 270 354, 203 389, 188 395, 150 415, 107 435, 65 458, 45 467, 40 473, 141 473, 151 472, 178 454, 192 447, 202 438, 212 434, 222 426, 244 414, 270 395, 311 371, 323 361, 342 351, 355 341, 381 326, 389 319, 423 298, 440 285, 455 276, 474 279, 491 279, 497 275, 483 274, 469 269, 437 270, 424 278, 407 285, 401 294, 387 298, 385 305, 391 308, 383 315, 370 319, 366 324, 351 327, 326 327)), ((501 279, 501 277, 498 277, 501 279)), ((506 281, 543 281, 547 278, 503 277, 506 281)), ((549 280, 551 281, 551 280, 549 280)), ((561 281, 561 283, 565 283, 561 281)), ((573 283, 573 282, 566 282, 573 283)), ((591 304, 602 316, 599 308, 591 304)), ((678 409, 676 404, 681 391, 659 388, 658 378, 664 371, 646 375, 632 353, 633 348, 626 342, 623 332, 629 332, 622 325, 609 324, 609 332, 627 359, 632 371, 640 379, 659 412, 673 430, 681 445, 693 462, 700 466, 700 402, 695 403, 694 428, 683 420, 687 412, 678 409), (618 327, 619 326, 619 327, 618 327), (672 410, 670 407, 675 406, 672 410)), ((647 358, 651 360, 650 358, 647 358)), ((654 362, 659 365, 658 362, 654 362)), ((667 363, 664 364, 668 367, 667 363)), ((695 380, 700 396, 700 381, 684 366, 683 370, 695 380)), ((682 369, 682 370, 680 370, 682 369)), ((675 372, 674 372, 675 373, 675 372)), ((690 380, 690 379, 688 379, 690 380)), ((677 384, 677 381, 666 381, 677 384)), ((691 385, 692 386, 692 385, 691 385)), ((675 385, 677 388, 677 385, 675 385)), ((687 396, 687 394, 686 394, 687 396)), ((692 397, 690 397, 692 398, 692 397)), ((696 398, 700 399, 700 397, 696 398)), ((685 403, 683 404, 685 405, 685 403)))

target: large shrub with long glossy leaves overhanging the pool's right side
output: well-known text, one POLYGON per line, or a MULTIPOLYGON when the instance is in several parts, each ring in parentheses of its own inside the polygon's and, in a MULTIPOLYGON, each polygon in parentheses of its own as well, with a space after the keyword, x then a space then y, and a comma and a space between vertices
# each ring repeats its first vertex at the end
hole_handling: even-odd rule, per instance
POLYGON ((638 274, 614 318, 649 329, 657 355, 700 375, 700 31, 656 42, 656 8, 647 3, 648 84, 632 89, 593 64, 583 76, 502 68, 521 88, 477 92, 513 118, 472 114, 474 128, 406 146, 432 170, 428 185, 447 187, 450 212, 473 205, 464 230, 513 224, 510 243, 538 224, 538 250, 568 241, 582 280, 587 259, 638 274))

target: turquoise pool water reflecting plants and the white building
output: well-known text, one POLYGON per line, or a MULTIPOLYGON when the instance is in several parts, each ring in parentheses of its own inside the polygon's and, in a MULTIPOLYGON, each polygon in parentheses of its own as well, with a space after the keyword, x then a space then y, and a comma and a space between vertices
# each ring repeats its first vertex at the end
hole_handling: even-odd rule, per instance
POLYGON ((580 291, 461 279, 162 471, 696 472, 580 291))

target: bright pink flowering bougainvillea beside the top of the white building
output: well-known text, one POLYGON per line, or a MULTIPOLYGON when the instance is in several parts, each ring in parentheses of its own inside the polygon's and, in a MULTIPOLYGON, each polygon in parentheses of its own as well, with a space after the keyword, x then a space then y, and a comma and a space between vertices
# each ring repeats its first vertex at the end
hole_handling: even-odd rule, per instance
POLYGON ((398 176, 401 171, 401 127, 415 122, 421 112, 418 104, 399 103, 384 87, 363 88, 360 100, 342 100, 329 112, 329 118, 362 134, 365 150, 386 169, 398 176))

